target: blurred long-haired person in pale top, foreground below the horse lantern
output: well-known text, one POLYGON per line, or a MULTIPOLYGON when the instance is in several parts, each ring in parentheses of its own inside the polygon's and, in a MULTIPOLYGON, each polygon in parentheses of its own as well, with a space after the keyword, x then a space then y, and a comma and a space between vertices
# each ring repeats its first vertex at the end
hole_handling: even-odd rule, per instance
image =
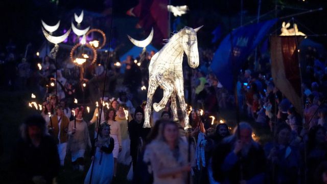
POLYGON ((186 183, 186 174, 191 170, 188 146, 179 139, 176 123, 160 125, 157 139, 146 148, 144 162, 151 163, 154 184, 186 183))

